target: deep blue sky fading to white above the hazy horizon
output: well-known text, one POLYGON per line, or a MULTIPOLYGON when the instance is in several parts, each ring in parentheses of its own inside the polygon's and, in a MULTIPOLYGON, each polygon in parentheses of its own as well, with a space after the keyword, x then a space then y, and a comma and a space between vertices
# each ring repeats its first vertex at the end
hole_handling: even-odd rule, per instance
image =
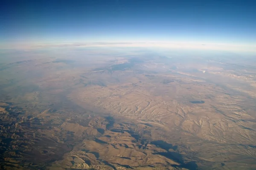
POLYGON ((0 44, 164 42, 256 49, 255 0, 1 0, 0 44))

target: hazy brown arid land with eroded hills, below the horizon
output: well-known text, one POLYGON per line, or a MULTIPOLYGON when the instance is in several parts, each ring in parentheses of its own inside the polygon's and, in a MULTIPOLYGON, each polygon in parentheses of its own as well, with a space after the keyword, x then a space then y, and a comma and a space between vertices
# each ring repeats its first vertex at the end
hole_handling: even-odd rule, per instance
POLYGON ((1 169, 256 169, 253 58, 3 55, 1 169))

